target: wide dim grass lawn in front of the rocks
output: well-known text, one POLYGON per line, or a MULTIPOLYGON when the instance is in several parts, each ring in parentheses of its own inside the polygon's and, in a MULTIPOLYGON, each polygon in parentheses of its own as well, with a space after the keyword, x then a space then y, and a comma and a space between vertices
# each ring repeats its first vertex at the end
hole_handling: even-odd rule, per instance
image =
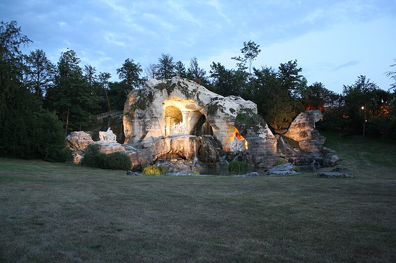
POLYGON ((395 141, 324 135, 357 178, 0 158, 0 262, 395 262, 395 141))

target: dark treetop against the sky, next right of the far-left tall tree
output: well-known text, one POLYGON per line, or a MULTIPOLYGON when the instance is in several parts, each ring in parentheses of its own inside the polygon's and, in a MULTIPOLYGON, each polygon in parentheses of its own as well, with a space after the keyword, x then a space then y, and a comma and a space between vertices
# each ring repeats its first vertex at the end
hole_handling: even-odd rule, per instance
POLYGON ((55 66, 47 59, 42 49, 30 52, 26 57, 26 84, 39 97, 43 97, 47 89, 53 84, 55 66))

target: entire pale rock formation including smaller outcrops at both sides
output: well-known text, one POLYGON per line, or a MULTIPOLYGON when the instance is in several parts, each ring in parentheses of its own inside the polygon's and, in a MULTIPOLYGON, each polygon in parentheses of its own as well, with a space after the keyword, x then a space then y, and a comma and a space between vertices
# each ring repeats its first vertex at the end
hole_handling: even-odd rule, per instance
MULTIPOLYGON (((263 168, 279 162, 334 166, 339 157, 322 147, 325 138, 315 129, 321 117, 319 111, 300 113, 285 134, 274 136, 251 101, 220 96, 181 77, 150 79, 132 90, 125 102, 124 144, 95 144, 104 153, 125 152, 134 168, 164 159, 182 170, 197 162, 214 167, 220 157, 241 157, 263 168), (177 160, 180 165, 175 165, 177 160)), ((71 133, 67 141, 82 153, 94 143, 84 132, 71 133)))

